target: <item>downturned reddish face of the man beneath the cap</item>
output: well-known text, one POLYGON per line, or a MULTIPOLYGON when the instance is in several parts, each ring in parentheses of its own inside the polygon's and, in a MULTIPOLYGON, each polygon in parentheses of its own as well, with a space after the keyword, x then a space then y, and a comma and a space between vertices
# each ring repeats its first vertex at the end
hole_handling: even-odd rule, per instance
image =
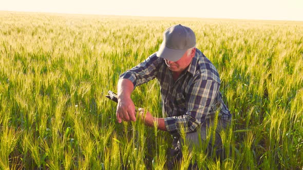
POLYGON ((186 51, 178 61, 174 62, 174 61, 168 61, 167 59, 165 59, 165 63, 169 70, 171 70, 173 72, 182 72, 192 62, 192 59, 195 56, 195 52, 196 52, 196 49, 193 49, 190 53, 188 53, 188 51, 186 51))

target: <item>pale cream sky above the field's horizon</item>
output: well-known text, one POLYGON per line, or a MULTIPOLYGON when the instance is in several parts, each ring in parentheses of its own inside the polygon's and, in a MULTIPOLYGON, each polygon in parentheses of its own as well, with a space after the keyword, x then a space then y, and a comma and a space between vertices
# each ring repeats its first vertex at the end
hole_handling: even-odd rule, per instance
POLYGON ((303 0, 0 0, 0 11, 303 21, 303 0))

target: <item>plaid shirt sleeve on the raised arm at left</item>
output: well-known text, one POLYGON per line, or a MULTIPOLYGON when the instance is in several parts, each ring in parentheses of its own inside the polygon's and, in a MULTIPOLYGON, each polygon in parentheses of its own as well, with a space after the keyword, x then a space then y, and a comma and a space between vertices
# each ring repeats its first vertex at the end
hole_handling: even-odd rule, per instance
POLYGON ((127 70, 119 76, 119 79, 126 78, 134 84, 134 88, 145 82, 154 79, 158 72, 158 66, 161 59, 156 53, 151 54, 147 59, 141 62, 138 66, 127 70))

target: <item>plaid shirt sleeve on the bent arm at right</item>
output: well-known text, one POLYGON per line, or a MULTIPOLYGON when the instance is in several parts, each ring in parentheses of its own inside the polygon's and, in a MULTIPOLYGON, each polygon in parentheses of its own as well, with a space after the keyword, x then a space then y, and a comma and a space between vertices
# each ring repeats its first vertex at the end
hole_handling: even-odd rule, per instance
POLYGON ((180 133, 180 128, 183 127, 185 133, 196 132, 198 125, 209 114, 219 87, 220 84, 212 79, 196 79, 186 96, 186 113, 164 118, 167 131, 180 133))

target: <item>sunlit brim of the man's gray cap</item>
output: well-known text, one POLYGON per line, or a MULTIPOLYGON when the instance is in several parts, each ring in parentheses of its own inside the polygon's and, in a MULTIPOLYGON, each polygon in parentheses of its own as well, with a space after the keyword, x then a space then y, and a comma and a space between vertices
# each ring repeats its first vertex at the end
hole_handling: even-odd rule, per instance
POLYGON ((157 52, 157 56, 161 58, 165 58, 168 61, 178 61, 187 50, 175 50, 165 47, 165 44, 161 44, 159 51, 157 52))

